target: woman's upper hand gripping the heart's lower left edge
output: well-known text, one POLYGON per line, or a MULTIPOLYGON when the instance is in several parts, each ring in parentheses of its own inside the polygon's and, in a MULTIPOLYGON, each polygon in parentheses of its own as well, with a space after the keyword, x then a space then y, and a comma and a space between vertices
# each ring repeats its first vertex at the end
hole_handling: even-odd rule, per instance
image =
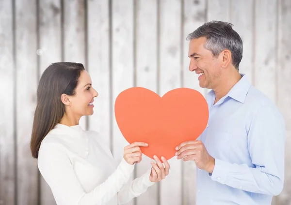
POLYGON ((131 165, 142 161, 142 151, 140 146, 148 145, 144 142, 134 142, 124 147, 123 158, 125 159, 125 161, 127 161, 131 165))

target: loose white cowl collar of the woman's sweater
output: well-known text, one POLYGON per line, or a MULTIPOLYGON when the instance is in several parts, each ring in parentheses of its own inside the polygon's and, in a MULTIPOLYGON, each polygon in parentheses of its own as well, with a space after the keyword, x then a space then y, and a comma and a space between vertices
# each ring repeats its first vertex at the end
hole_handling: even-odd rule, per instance
POLYGON ((66 126, 57 124, 51 131, 52 134, 62 135, 59 140, 62 141, 68 149, 87 158, 89 154, 89 139, 87 133, 84 132, 80 125, 66 126))

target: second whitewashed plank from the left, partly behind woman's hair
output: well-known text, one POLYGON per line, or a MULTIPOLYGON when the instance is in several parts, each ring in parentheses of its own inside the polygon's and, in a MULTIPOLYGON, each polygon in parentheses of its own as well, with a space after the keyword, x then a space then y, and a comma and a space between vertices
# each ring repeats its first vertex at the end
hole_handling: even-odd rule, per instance
POLYGON ((30 136, 36 106, 37 32, 36 4, 16 0, 16 133, 17 204, 37 204, 36 160, 30 152, 30 136))

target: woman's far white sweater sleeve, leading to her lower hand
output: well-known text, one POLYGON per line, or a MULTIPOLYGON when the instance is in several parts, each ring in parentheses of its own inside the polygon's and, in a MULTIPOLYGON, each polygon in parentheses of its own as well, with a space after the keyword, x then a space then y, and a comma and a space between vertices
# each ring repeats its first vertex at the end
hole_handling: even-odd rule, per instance
POLYGON ((148 187, 155 184, 149 180, 150 171, 151 169, 147 170, 144 175, 134 179, 122 187, 122 189, 118 192, 118 205, 128 203, 131 199, 145 193, 148 187))

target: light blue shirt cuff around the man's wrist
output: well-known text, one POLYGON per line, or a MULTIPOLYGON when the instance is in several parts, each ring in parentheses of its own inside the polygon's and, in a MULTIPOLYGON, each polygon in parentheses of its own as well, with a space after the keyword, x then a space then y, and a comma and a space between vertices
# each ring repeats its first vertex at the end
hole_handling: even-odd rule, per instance
POLYGON ((215 159, 214 169, 212 174, 209 173, 209 176, 213 181, 217 181, 221 184, 226 183, 226 178, 228 176, 228 162, 215 159))

